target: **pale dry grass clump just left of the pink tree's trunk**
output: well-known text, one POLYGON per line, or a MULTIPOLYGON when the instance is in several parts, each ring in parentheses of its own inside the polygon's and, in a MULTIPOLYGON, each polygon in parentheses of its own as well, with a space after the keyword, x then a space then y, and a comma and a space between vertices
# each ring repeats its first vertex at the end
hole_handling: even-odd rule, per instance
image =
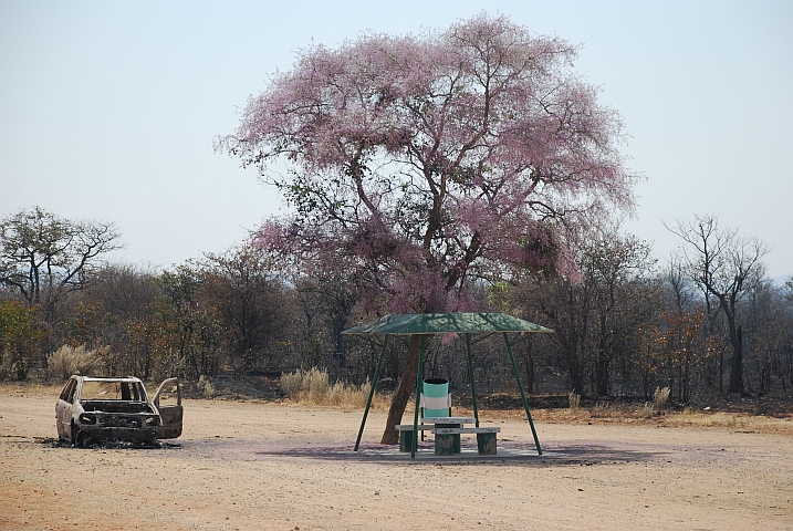
MULTIPOLYGON (((299 368, 294 373, 281 374, 281 389, 286 398, 295 403, 365 407, 372 383, 367 379, 361 385, 345 385, 342 382, 331 385, 327 372, 312 367, 309 371, 299 368)), ((372 398, 372 407, 375 408, 386 409, 389 403, 389 396, 377 393, 372 398)))

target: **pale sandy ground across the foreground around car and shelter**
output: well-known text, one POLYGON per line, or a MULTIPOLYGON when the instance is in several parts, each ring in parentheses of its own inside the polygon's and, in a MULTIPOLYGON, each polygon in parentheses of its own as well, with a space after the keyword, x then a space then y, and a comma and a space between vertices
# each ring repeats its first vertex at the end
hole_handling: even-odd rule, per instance
MULTIPOLYGON (((187 400, 178 446, 72 449, 46 393, 0 395, 0 529, 793 530, 793 433, 491 416, 499 455, 416 460, 374 412, 187 400)), ((539 415, 542 418, 542 415, 539 415)), ((488 412, 482 413, 487 420, 488 412)), ((487 424, 486 424, 487 425, 487 424)), ((772 430, 773 431, 773 430, 772 430)))

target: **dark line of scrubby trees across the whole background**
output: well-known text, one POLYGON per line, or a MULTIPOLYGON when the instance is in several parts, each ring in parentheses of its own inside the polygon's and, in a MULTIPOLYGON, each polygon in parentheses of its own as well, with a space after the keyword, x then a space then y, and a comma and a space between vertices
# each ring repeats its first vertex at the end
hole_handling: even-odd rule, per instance
MULTIPOLYGON (((285 275, 254 239, 164 271, 104 263, 102 254, 118 243, 112 225, 75 223, 39 208, 6 218, 0 229, 3 378, 46 377, 48 354, 64 344, 95 351, 106 374, 144 378, 246 378, 300 366, 349 384, 372 376, 377 351, 341 335, 377 316, 365 309, 358 277, 338 269, 285 275), (88 236, 65 237, 59 227, 107 236, 94 244, 101 252, 85 258, 88 236)), ((713 217, 672 230, 686 252, 661 264, 647 242, 612 227, 581 238, 575 277, 526 268, 476 284, 473 310, 555 332, 517 347, 528 391, 647 399, 668 386, 685 404, 793 388, 793 279, 775 285, 762 269, 762 242, 713 217)), ((484 341, 474 351, 483 391, 510 386, 501 348, 484 341)), ((406 353, 398 342, 388 351, 382 386, 395 387, 406 353)), ((425 373, 465 387, 465 360, 461 342, 436 340, 425 373)))

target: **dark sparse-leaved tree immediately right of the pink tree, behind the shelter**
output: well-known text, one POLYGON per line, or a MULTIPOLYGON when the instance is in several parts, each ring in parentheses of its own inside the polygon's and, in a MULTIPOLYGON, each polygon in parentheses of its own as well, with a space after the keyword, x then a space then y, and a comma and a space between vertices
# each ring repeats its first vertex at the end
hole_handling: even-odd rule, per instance
POLYGON ((607 395, 614 362, 633 352, 638 330, 658 305, 655 261, 647 243, 611 227, 582 238, 576 262, 580 280, 529 275, 514 298, 524 316, 554 330, 549 341, 564 358, 570 388, 583 393, 588 375, 593 391, 607 395))

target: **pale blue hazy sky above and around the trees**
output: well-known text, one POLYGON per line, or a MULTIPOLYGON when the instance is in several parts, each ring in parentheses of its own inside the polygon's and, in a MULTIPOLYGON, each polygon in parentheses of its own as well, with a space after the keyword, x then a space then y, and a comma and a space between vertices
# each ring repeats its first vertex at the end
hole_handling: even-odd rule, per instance
POLYGON ((212 150, 249 95, 312 40, 417 33, 480 11, 584 48, 632 139, 637 219, 714 214, 793 274, 793 2, 0 0, 0 218, 39 205, 115 221, 113 261, 168 268, 241 241, 278 214, 254 170, 212 150), (383 7, 380 7, 383 4, 383 7))

